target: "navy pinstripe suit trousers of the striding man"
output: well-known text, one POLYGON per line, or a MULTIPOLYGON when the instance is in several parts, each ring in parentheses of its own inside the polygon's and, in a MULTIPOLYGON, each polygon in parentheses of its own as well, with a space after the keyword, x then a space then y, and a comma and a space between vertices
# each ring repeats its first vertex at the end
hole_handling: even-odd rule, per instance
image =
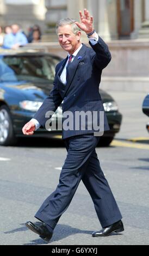
POLYGON ((95 151, 99 139, 100 137, 95 137, 92 133, 65 139, 67 156, 61 169, 59 184, 36 212, 35 217, 38 220, 54 229, 71 203, 80 180, 90 193, 103 228, 121 220, 120 210, 95 151))

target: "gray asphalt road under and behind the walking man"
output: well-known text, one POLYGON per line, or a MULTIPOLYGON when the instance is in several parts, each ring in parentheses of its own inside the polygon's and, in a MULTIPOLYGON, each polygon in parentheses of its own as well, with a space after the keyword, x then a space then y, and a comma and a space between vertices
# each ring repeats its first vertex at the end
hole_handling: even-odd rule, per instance
MULTIPOLYGON (((61 216, 49 245, 149 244, 149 134, 141 112, 144 93, 109 92, 123 114, 121 131, 110 147, 97 148, 103 172, 123 216, 125 231, 91 237, 101 228, 82 182, 61 216)), ((21 139, 17 147, 0 147, 0 245, 46 245, 24 223, 58 184, 66 150, 61 141, 21 139)))

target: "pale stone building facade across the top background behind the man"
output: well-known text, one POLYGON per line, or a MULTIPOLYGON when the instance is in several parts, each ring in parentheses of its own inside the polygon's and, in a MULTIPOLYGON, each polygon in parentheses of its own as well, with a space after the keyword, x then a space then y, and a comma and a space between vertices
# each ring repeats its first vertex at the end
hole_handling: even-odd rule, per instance
POLYGON ((24 31, 38 23, 54 40, 57 20, 79 20, 78 11, 84 8, 105 40, 149 38, 149 0, 0 0, 0 23, 17 22, 24 31))

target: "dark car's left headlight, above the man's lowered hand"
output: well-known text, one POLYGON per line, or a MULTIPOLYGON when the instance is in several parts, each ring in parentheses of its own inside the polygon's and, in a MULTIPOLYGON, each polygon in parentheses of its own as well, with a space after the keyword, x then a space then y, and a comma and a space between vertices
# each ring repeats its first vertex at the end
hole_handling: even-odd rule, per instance
POLYGON ((20 101, 20 107, 29 111, 36 112, 42 105, 41 101, 30 101, 30 100, 23 100, 20 101))

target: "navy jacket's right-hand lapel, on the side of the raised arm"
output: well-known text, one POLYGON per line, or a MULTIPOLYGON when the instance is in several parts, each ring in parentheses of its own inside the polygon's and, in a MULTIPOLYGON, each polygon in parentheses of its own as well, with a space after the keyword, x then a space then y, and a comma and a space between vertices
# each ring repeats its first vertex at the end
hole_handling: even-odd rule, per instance
POLYGON ((73 59, 73 62, 69 66, 69 74, 68 74, 68 77, 67 77, 65 94, 66 94, 67 90, 70 87, 70 84, 71 84, 71 82, 73 80, 73 77, 74 77, 74 75, 76 73, 76 69, 78 67, 79 62, 82 61, 82 58, 85 55, 85 51, 86 51, 86 46, 83 44, 82 48, 80 48, 80 50, 77 53, 76 57, 73 59), (78 58, 78 57, 82 57, 82 58, 78 58))

